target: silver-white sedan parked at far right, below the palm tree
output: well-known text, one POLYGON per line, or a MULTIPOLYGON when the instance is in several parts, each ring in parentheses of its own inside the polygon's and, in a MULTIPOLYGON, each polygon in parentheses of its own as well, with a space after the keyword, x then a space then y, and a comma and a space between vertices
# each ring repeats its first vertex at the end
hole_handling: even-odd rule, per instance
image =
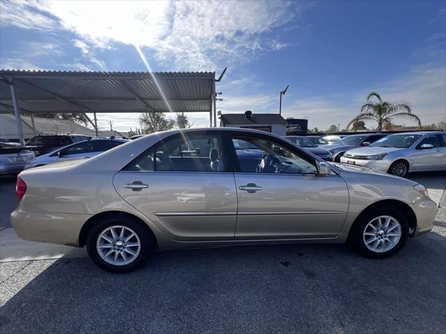
POLYGON ((445 132, 406 132, 349 150, 341 162, 405 177, 409 172, 446 170, 445 132))

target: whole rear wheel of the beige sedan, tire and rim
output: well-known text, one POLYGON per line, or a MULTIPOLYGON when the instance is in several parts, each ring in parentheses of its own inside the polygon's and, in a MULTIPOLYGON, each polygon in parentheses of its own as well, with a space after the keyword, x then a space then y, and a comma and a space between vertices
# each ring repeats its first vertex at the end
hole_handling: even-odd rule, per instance
POLYGON ((89 231, 86 248, 91 260, 112 273, 128 273, 141 267, 155 248, 143 223, 128 216, 101 218, 89 231))

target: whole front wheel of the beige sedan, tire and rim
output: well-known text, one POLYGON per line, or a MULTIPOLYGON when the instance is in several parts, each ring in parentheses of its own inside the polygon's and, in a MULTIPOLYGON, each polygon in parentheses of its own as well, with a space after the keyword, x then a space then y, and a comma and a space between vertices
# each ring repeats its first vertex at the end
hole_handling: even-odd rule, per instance
POLYGON ((408 221, 392 207, 372 209, 357 218, 349 239, 367 257, 389 257, 406 244, 408 221))

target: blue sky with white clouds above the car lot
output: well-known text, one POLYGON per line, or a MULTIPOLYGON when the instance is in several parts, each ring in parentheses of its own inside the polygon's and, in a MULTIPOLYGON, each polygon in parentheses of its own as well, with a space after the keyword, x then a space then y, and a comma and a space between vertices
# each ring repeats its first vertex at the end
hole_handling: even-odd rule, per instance
MULTIPOLYGON (((153 71, 228 67, 222 113, 278 113, 289 85, 282 115, 310 128, 342 129, 374 90, 423 124, 446 118, 446 1, 0 0, 2 69, 146 71, 135 45, 153 71)), ((137 114, 98 120, 139 126, 137 114)))

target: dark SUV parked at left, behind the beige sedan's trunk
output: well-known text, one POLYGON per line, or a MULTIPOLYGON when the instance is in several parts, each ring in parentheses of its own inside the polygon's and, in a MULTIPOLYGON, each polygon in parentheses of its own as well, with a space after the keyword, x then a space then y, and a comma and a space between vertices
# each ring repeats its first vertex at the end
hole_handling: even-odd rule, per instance
POLYGON ((38 156, 72 143, 86 141, 88 138, 88 136, 73 134, 38 135, 26 141, 26 146, 33 148, 34 153, 38 156))

